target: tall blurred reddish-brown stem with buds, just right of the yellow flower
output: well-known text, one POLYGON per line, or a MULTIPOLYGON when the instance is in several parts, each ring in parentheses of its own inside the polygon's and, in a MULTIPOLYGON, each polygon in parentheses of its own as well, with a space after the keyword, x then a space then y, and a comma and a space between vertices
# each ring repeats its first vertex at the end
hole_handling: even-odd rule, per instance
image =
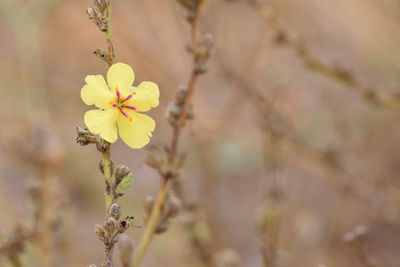
MULTIPOLYGON (((138 245, 133 267, 141 266, 151 240, 157 232, 157 228, 160 226, 163 228, 163 222, 160 221, 160 219, 163 215, 165 202, 168 199, 170 181, 178 176, 179 169, 182 167, 184 159, 182 155, 178 154, 181 132, 186 121, 191 118, 192 99, 197 87, 198 78, 205 72, 205 63, 210 55, 211 44, 207 38, 203 38, 200 35, 199 25, 205 0, 180 0, 179 3, 186 8, 187 19, 191 26, 192 43, 188 50, 193 55, 193 67, 187 87, 183 88, 183 90, 178 90, 176 102, 172 102, 171 104, 174 108, 168 110, 169 120, 173 126, 170 146, 161 151, 159 150, 158 152, 152 153, 148 158, 149 165, 158 169, 160 173, 161 185, 152 204, 151 211, 149 212, 147 226, 138 245)), ((167 219, 168 216, 165 217, 165 220, 167 219)))

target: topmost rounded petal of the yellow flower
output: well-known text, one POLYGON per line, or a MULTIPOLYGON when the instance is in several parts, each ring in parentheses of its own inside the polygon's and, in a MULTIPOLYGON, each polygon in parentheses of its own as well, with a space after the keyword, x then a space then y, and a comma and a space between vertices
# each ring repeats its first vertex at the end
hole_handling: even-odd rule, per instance
POLYGON ((108 69, 107 81, 111 91, 118 89, 124 97, 130 94, 134 80, 135 74, 131 66, 125 63, 115 63, 108 69))

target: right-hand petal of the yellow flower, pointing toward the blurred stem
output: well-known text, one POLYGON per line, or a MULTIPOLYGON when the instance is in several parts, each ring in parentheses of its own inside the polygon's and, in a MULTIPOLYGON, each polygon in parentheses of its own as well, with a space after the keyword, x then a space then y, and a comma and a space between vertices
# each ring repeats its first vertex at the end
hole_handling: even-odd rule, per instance
POLYGON ((160 90, 153 82, 142 82, 133 90, 133 97, 127 101, 129 106, 134 106, 137 111, 146 112, 155 108, 160 103, 160 90))

